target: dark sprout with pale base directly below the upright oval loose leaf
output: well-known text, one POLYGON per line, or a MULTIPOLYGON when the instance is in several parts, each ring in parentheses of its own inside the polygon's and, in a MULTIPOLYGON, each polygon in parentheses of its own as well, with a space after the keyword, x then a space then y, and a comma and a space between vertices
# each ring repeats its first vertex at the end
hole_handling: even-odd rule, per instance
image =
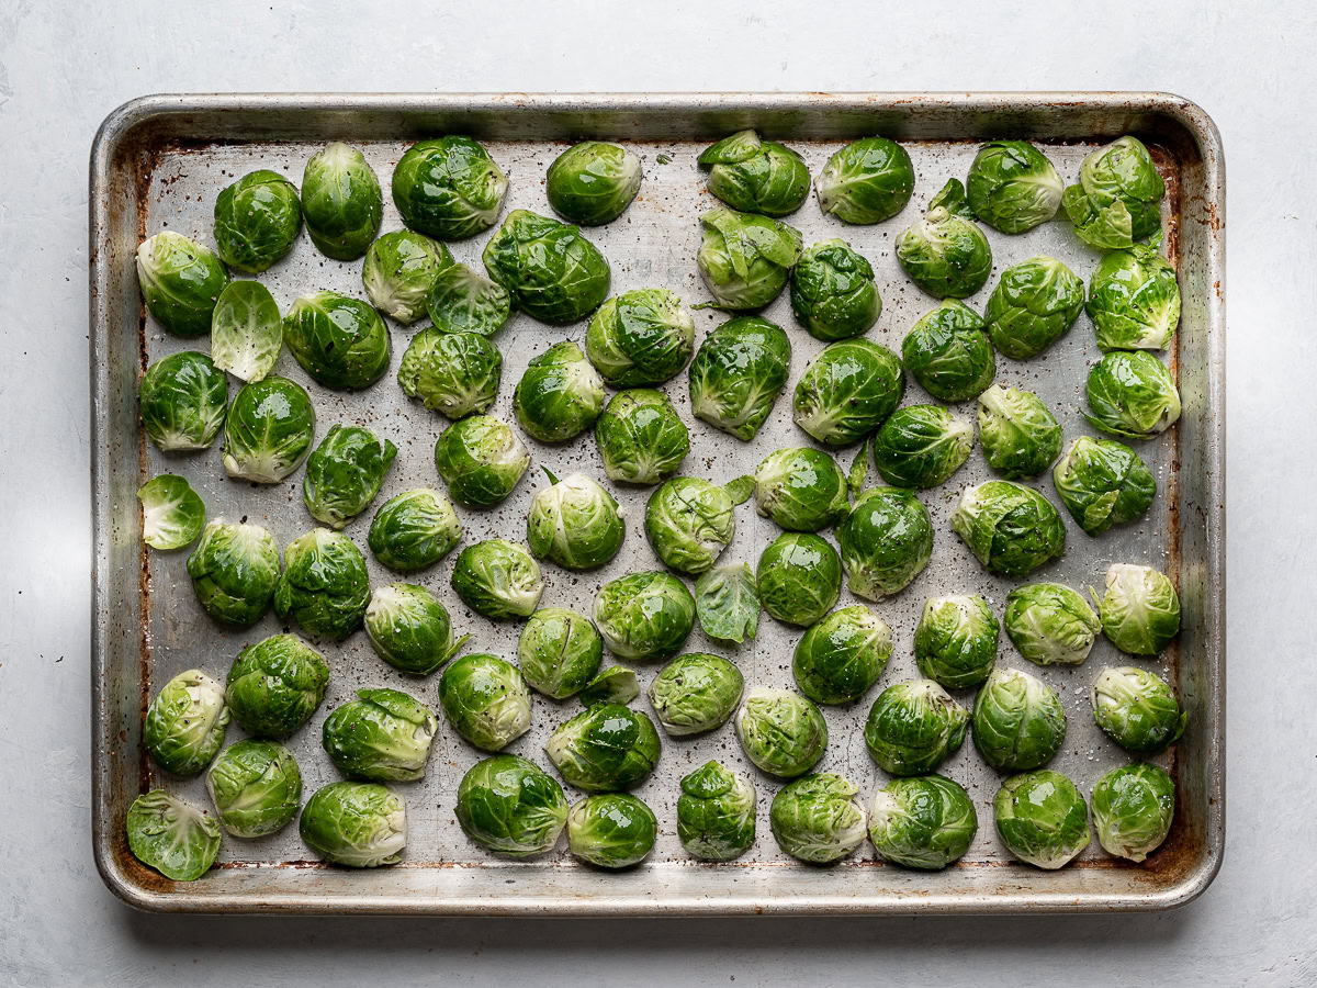
POLYGON ((278 483, 302 466, 316 435, 307 390, 286 377, 244 385, 224 420, 224 472, 253 483, 278 483))

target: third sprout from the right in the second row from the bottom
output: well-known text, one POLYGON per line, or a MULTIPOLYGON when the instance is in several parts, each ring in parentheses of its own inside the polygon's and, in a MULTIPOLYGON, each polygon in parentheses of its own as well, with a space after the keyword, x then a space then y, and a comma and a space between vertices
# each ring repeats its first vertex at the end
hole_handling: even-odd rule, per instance
POLYGON ((864 744, 889 776, 922 776, 955 755, 969 711, 932 680, 893 682, 864 722, 864 744))

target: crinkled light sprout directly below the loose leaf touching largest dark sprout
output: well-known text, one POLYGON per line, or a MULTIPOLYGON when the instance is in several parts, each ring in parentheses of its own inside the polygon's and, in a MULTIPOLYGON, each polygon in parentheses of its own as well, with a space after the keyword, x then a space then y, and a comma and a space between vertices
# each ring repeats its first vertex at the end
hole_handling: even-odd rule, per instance
POLYGON ((398 386, 450 419, 489 411, 503 379, 503 354, 479 333, 416 333, 398 365, 398 386))

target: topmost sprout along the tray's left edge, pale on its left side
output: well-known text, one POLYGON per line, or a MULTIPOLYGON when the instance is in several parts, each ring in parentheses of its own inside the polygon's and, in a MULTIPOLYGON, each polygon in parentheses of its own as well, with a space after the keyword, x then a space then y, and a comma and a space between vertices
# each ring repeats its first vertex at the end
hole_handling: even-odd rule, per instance
POLYGON ((207 246, 161 231, 137 248, 137 285, 146 311, 174 336, 211 332, 215 303, 229 274, 207 246))

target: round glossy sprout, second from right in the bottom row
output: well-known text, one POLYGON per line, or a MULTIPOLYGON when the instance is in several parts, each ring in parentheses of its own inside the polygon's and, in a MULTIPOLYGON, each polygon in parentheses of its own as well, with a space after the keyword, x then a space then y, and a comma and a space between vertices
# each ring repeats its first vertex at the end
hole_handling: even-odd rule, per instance
POLYGON ((1040 768, 1011 776, 993 800, 997 834, 1019 860, 1055 869, 1088 847, 1088 805, 1060 772, 1040 768))

